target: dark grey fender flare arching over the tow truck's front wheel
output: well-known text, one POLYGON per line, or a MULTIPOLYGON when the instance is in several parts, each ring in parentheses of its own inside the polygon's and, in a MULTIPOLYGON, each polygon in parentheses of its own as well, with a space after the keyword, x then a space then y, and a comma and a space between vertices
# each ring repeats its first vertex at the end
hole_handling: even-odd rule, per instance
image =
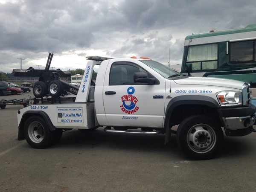
POLYGON ((210 108, 219 108, 220 105, 218 102, 209 96, 200 96, 200 95, 183 95, 183 96, 176 96, 173 98, 166 107, 165 112, 165 121, 164 121, 164 129, 166 132, 165 137, 165 144, 169 142, 169 134, 171 133, 169 131, 170 127, 170 118, 172 116, 173 110, 180 106, 180 105, 201 105, 201 106, 207 106, 210 108))

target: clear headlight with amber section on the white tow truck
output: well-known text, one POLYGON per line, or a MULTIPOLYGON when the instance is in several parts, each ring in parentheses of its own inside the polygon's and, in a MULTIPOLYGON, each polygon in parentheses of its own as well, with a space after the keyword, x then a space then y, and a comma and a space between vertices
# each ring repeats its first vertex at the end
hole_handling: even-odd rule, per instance
POLYGON ((242 92, 221 91, 216 95, 221 106, 242 105, 242 92))

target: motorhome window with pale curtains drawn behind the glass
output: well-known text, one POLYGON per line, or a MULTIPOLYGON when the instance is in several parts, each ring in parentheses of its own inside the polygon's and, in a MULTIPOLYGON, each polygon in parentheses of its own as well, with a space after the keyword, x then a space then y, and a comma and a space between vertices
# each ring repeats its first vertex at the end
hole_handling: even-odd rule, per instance
POLYGON ((208 44, 189 47, 187 63, 192 70, 212 70, 218 67, 218 45, 208 44))

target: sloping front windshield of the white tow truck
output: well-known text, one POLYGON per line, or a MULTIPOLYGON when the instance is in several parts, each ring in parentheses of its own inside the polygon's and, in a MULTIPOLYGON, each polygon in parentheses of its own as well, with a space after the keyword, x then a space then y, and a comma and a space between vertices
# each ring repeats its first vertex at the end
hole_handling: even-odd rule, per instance
POLYGON ((157 61, 152 60, 140 60, 144 64, 148 65, 148 67, 151 67, 153 70, 155 70, 157 73, 159 73, 164 78, 172 78, 172 77, 178 77, 183 76, 182 74, 178 73, 175 70, 170 69, 164 64, 158 63, 157 61))

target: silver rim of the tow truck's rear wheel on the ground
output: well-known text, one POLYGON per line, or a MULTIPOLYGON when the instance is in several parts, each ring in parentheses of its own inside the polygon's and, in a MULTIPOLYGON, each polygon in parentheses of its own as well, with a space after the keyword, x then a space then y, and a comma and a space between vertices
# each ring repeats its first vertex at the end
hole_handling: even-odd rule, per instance
POLYGON ((32 140, 33 143, 40 143, 44 140, 44 127, 40 122, 32 122, 28 128, 29 139, 32 140))

